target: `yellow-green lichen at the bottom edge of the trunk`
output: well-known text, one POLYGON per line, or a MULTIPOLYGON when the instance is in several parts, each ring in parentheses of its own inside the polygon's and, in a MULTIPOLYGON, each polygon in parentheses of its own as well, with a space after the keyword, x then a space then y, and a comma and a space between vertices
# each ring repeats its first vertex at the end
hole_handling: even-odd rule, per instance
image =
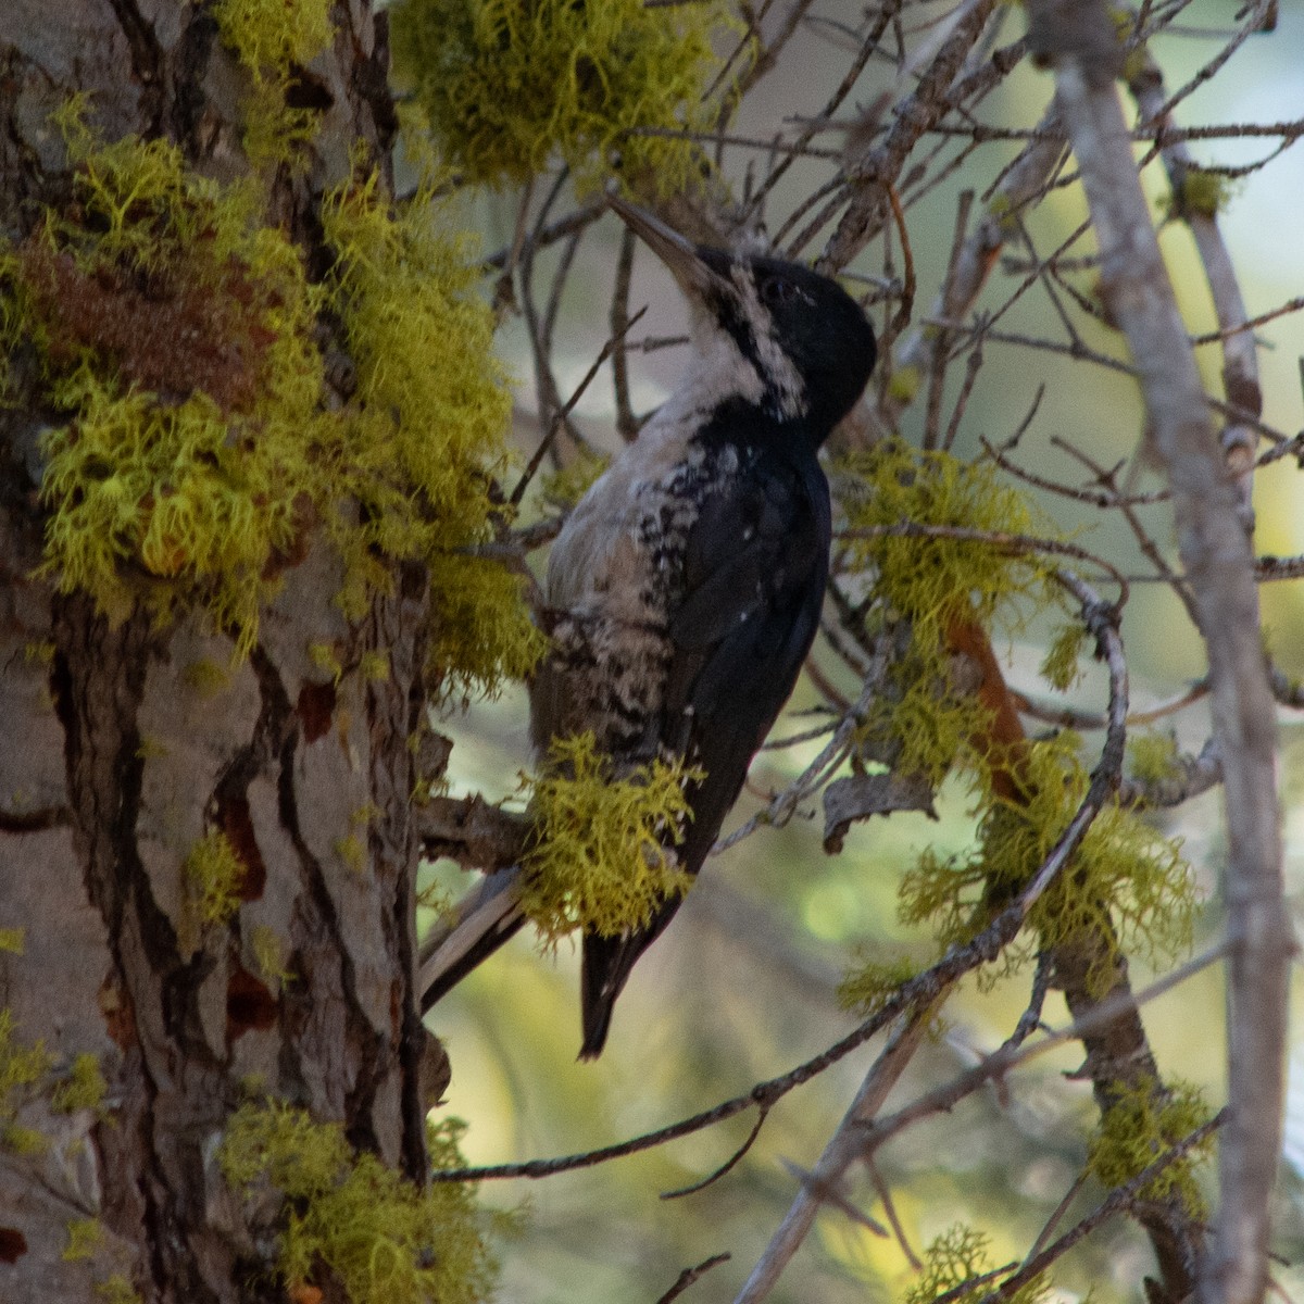
MULTIPOLYGON (((456 1123, 432 1128, 436 1168, 462 1163, 459 1134, 456 1123)), ((339 1124, 314 1123, 279 1102, 243 1106, 218 1157, 227 1181, 256 1208, 266 1208, 269 1191, 282 1198, 275 1271, 288 1288, 325 1267, 351 1304, 488 1297, 494 1265, 468 1187, 422 1191, 353 1150, 339 1124)))

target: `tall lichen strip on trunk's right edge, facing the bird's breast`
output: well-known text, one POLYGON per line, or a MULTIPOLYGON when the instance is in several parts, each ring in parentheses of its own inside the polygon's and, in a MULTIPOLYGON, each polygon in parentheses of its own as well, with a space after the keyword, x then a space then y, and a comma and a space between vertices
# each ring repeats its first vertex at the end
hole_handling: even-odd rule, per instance
POLYGON ((438 228, 439 213, 426 189, 394 216, 374 176, 323 205, 333 303, 357 365, 348 473, 364 507, 336 544, 349 567, 347 612, 387 583, 377 552, 426 561, 443 692, 492 692, 527 674, 546 642, 522 578, 475 556, 505 519, 493 476, 506 466, 511 398, 493 360, 493 316, 472 292, 469 248, 438 228))

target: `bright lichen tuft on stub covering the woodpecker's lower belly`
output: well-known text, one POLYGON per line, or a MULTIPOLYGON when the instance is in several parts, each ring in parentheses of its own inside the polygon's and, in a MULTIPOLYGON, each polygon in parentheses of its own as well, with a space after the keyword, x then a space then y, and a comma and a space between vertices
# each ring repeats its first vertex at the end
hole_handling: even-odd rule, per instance
POLYGON ((544 941, 575 928, 617 936, 644 927, 690 878, 665 844, 691 818, 685 784, 700 771, 653 762, 617 778, 592 734, 554 739, 548 773, 528 780, 535 844, 520 904, 544 941))

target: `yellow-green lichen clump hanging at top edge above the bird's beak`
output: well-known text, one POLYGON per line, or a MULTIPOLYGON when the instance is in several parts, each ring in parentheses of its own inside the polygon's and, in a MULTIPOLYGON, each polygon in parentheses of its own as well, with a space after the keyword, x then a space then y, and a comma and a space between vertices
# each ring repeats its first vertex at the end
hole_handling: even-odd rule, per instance
POLYGON ((705 90, 722 5, 403 0, 390 13, 399 78, 469 181, 522 184, 557 156, 582 189, 613 163, 662 194, 700 176, 695 145, 636 132, 715 123, 720 99, 705 90))

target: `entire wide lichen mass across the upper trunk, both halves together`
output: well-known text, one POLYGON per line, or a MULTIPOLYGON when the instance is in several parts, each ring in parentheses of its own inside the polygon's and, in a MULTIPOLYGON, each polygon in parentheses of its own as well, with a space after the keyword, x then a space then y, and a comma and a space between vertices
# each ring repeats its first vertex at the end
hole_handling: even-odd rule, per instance
POLYGON ((46 572, 115 619, 202 608, 248 652, 319 531, 346 562, 349 615, 395 562, 432 569, 446 685, 528 670, 542 639, 519 580, 469 556, 501 512, 510 396, 468 250, 429 189, 395 213, 360 168, 326 197, 335 266, 314 283, 266 224, 258 180, 200 176, 166 141, 102 143, 76 104, 60 126, 73 203, 0 246, 0 343, 34 356, 61 415, 42 449, 46 572), (357 361, 343 404, 326 313, 357 361))

